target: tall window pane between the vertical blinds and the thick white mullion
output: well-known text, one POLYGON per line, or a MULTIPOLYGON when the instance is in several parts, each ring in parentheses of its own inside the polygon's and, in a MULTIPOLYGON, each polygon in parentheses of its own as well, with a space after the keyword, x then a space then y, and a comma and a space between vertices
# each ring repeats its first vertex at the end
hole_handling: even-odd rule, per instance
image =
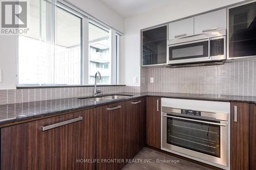
POLYGON ((55 84, 81 84, 81 18, 57 8, 55 84))

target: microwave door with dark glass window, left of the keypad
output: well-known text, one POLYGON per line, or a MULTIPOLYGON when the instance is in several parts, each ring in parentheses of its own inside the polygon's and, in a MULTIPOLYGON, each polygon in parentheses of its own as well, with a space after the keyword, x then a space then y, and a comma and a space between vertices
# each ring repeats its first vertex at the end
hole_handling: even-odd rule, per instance
POLYGON ((169 46, 169 61, 209 57, 209 39, 169 46))

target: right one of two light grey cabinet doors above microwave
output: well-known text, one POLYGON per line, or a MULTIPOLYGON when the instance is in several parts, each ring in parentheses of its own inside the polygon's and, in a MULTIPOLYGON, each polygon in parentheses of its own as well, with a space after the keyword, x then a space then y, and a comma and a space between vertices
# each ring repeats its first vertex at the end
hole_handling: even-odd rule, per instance
POLYGON ((227 28, 227 11, 221 9, 195 16, 195 35, 227 28))

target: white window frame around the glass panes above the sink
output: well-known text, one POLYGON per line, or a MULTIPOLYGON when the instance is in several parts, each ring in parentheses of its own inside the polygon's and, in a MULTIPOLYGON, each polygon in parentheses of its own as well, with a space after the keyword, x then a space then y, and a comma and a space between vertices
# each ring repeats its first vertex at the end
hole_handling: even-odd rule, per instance
POLYGON ((120 39, 123 35, 121 32, 115 30, 114 28, 106 25, 104 22, 101 22, 100 20, 94 18, 93 16, 83 12, 82 10, 78 9, 77 7, 63 1, 58 0, 57 1, 57 7, 62 8, 63 10, 66 10, 78 17, 81 18, 81 74, 80 74, 80 84, 79 85, 58 85, 58 84, 52 84, 52 85, 40 85, 40 84, 19 84, 19 74, 18 74, 18 47, 19 47, 19 36, 16 35, 16 87, 74 87, 74 86, 87 86, 92 85, 89 84, 89 22, 92 22, 94 25, 104 29, 108 30, 111 34, 111 62, 113 61, 113 58, 116 58, 115 64, 111 63, 111 83, 110 84, 101 84, 101 85, 118 85, 119 84, 119 61, 120 61, 120 39), (118 42, 116 42, 116 35, 118 35, 118 42), (117 46, 116 46, 117 45, 117 46), (116 49, 118 48, 118 49, 116 49), (114 71, 116 70, 116 71, 114 71), (114 71, 114 72, 113 72, 114 71), (115 79, 113 79, 115 78, 115 79))

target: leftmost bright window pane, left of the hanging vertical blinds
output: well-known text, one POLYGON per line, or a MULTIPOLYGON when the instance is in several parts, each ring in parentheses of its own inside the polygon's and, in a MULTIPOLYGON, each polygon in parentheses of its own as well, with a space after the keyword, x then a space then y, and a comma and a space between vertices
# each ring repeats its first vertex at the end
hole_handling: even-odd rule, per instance
MULTIPOLYGON (((45 15, 40 18, 41 13, 45 14, 44 1, 27 1, 29 7, 27 34, 18 37, 18 83, 37 85, 42 82, 42 49, 41 35, 45 35, 44 31, 40 32, 40 28, 45 26, 45 15)), ((45 36, 43 36, 45 37, 45 36)))

